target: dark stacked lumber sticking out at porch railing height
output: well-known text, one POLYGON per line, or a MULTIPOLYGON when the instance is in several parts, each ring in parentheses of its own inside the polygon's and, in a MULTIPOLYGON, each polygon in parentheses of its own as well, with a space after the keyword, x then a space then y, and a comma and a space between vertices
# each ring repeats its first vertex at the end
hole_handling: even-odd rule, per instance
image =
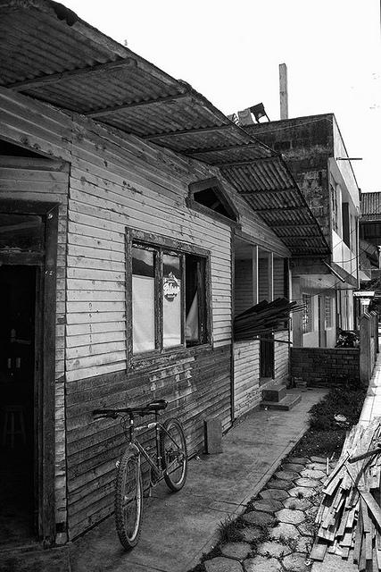
POLYGON ((234 320, 234 339, 253 340, 253 337, 268 335, 277 330, 290 317, 290 312, 300 311, 302 306, 286 298, 272 302, 262 300, 256 306, 237 315, 234 320))

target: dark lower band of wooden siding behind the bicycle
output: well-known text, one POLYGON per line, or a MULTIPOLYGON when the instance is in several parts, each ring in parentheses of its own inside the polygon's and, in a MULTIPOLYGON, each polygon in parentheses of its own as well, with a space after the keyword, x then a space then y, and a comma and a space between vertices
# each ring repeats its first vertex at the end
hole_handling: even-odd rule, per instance
MULTIPOLYGON (((68 383, 70 539, 113 509, 115 460, 124 438, 115 421, 94 421, 92 409, 100 403, 118 407, 149 399, 170 400, 163 418, 177 416, 184 423, 191 455, 203 450, 204 419, 219 416, 224 430, 230 425, 230 347, 173 355, 156 371, 146 368, 68 383)), ((142 441, 148 442, 149 435, 142 441)))

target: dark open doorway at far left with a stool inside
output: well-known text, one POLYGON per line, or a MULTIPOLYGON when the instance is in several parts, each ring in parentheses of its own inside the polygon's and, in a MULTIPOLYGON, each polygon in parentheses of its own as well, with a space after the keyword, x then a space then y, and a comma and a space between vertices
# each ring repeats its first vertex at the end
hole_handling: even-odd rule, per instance
POLYGON ((0 544, 37 541, 37 266, 0 265, 0 544))

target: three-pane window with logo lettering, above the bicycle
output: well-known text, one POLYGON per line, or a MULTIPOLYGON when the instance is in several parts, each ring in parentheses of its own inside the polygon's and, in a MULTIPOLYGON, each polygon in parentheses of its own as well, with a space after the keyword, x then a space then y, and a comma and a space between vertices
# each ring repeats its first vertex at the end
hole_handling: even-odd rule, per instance
POLYGON ((128 231, 128 327, 135 357, 209 341, 208 253, 165 238, 155 237, 153 243, 152 238, 128 231))

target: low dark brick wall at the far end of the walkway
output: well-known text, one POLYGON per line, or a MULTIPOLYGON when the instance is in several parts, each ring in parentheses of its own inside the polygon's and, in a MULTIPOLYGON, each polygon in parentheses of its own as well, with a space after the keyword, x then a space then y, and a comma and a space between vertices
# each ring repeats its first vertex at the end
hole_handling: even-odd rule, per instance
POLYGON ((291 378, 309 386, 360 383, 359 348, 292 348, 291 378))

